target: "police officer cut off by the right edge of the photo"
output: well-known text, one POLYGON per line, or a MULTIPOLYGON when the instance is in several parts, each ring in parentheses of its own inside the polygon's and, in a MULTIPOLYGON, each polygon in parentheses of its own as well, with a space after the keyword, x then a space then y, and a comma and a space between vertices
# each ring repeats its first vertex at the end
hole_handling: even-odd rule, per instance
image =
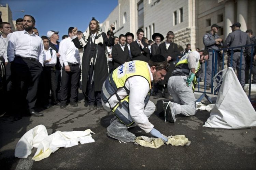
MULTIPOLYGON (((248 36, 250 37, 251 40, 251 44, 256 44, 256 37, 253 36, 253 30, 246 30, 245 31, 248 36)), ((252 80, 252 84, 256 84, 256 45, 252 48, 254 48, 253 50, 253 56, 255 59, 253 59, 253 65, 252 65, 252 74, 253 74, 253 80, 252 80)), ((249 82, 249 76, 250 76, 250 64, 251 64, 251 56, 246 56, 245 58, 245 83, 249 82)))

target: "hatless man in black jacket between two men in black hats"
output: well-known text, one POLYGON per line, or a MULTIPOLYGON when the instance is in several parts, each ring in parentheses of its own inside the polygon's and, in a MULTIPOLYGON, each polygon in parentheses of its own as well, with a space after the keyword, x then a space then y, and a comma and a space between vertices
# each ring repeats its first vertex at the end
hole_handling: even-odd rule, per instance
POLYGON ((144 37, 144 31, 138 29, 137 39, 130 44, 131 48, 131 60, 141 60, 148 62, 150 60, 150 50, 148 49, 148 44, 145 43, 142 39, 144 37))

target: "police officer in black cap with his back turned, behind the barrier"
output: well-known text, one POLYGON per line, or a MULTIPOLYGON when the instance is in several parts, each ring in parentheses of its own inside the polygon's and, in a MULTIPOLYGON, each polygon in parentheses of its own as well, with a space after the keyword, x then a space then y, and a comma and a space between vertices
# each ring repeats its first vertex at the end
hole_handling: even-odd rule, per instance
MULTIPOLYGON (((232 32, 228 34, 226 41, 224 43, 224 47, 238 47, 238 46, 244 46, 251 44, 249 36, 240 30, 241 24, 239 22, 234 23, 232 26, 230 26, 232 29, 232 32)), ((245 85, 245 57, 246 55, 251 55, 251 47, 245 47, 245 49, 242 52, 242 63, 240 68, 240 55, 241 55, 241 48, 234 48, 233 49, 233 57, 231 61, 231 50, 228 51, 228 67, 231 66, 232 62, 232 68, 235 70, 237 69, 237 75, 240 75, 241 71, 241 80, 240 84, 242 87, 245 85), (246 54, 246 55, 244 55, 246 54)))

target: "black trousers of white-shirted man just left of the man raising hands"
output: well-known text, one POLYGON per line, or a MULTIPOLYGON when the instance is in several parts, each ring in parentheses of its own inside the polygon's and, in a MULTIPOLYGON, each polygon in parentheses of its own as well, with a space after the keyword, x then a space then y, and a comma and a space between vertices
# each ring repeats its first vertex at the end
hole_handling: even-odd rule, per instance
POLYGON ((68 88, 70 85, 70 102, 77 102, 78 83, 80 78, 79 64, 70 64, 70 72, 65 71, 65 66, 62 67, 61 75, 61 90, 60 100, 61 104, 66 105, 68 99, 68 88))

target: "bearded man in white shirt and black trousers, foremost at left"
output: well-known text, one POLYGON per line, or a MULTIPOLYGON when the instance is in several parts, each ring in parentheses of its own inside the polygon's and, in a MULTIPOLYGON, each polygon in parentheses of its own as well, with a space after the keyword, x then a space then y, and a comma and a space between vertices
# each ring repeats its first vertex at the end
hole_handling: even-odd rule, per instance
POLYGON ((34 17, 25 15, 23 18, 25 30, 12 33, 8 42, 7 56, 11 62, 17 119, 21 118, 20 112, 24 109, 28 109, 30 116, 43 116, 42 113, 35 111, 35 102, 39 78, 43 70, 44 46, 42 39, 34 34, 32 30, 34 26, 34 17))

